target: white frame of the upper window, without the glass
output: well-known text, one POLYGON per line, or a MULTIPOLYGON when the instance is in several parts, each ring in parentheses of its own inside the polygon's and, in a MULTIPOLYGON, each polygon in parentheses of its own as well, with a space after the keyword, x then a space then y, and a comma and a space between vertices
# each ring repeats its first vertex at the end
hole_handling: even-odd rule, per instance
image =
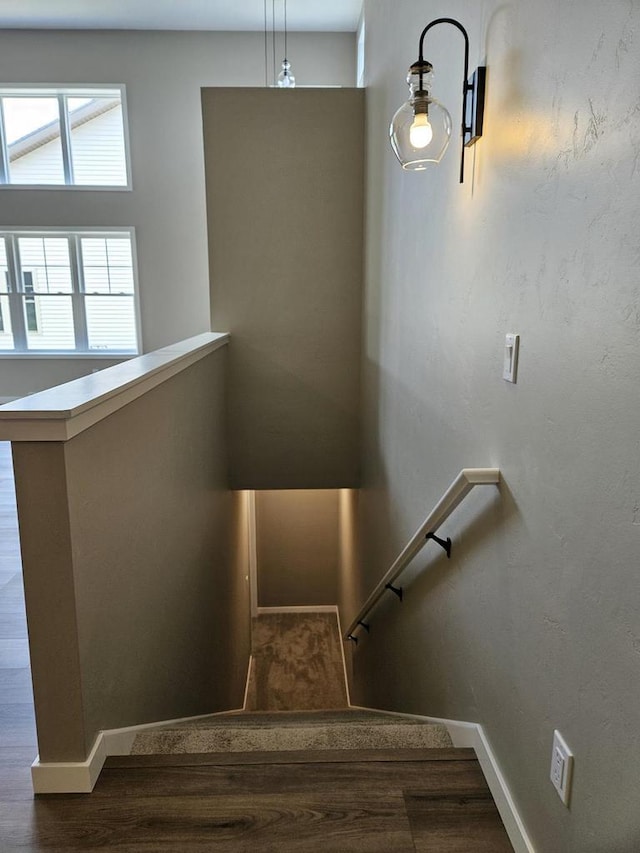
POLYGON ((57 98, 58 115, 60 120, 60 144, 62 148, 62 165, 64 171, 64 184, 19 184, 9 183, 9 153, 4 127, 4 116, 2 101, 0 101, 0 190, 107 190, 111 192, 127 192, 132 189, 131 184, 131 155, 129 146, 129 121, 127 109, 127 91, 121 83, 113 85, 107 83, 79 86, 16 83, 0 84, 0 98, 14 96, 20 98, 57 98), (126 168, 125 184, 74 184, 73 165, 71 155, 71 128, 69 126, 69 112, 67 109, 68 98, 90 98, 104 97, 105 92, 118 91, 122 105, 122 134, 124 142, 124 158, 126 168))

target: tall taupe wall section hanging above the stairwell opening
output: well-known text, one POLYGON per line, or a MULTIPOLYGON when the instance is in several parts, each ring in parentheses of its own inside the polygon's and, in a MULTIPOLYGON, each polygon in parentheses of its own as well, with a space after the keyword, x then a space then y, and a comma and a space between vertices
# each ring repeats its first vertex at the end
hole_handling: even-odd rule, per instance
POLYGON ((203 118, 231 484, 356 485, 363 92, 205 89, 203 118))

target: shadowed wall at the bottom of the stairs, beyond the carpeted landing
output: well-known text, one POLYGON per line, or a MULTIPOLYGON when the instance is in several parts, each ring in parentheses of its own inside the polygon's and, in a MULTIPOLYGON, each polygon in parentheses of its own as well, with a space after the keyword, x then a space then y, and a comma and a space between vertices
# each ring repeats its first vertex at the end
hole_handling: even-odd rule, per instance
POLYGON ((337 604, 340 492, 256 492, 258 605, 337 604))

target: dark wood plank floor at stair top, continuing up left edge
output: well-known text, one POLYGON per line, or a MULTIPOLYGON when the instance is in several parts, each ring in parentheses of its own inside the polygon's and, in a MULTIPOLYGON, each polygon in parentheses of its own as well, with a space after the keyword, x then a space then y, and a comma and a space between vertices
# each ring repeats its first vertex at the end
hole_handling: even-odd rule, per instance
POLYGON ((37 752, 10 451, 0 442, 0 853, 508 853, 470 750, 130 756, 34 798, 37 752), (348 760, 346 760, 348 759, 348 760), (170 761, 172 766, 167 766, 170 761))

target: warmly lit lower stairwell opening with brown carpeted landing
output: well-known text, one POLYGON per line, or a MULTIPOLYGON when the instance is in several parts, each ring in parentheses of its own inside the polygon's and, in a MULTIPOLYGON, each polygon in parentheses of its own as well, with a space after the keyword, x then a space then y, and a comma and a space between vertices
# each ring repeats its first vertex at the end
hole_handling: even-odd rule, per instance
POLYGON ((357 491, 246 494, 252 662, 245 707, 348 706, 340 611, 354 595, 357 491), (265 679, 269 695, 256 705, 256 685, 265 679))

